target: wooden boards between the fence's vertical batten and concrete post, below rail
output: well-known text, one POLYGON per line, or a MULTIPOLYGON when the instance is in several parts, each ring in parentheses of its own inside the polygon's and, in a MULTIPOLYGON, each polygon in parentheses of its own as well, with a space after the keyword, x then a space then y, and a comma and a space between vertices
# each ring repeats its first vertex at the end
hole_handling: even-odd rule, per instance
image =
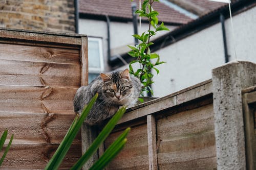
POLYGON ((217 168, 212 104, 157 121, 158 169, 217 168))

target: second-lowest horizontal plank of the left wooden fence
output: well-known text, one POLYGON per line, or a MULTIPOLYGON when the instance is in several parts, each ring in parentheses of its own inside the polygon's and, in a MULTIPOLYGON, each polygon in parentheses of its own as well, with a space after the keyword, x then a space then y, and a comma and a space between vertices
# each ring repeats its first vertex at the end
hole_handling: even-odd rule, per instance
MULTIPOLYGON (((60 143, 74 117, 75 114, 0 112, 0 133, 8 129, 16 144, 60 143)), ((81 143, 80 133, 74 143, 81 143)))

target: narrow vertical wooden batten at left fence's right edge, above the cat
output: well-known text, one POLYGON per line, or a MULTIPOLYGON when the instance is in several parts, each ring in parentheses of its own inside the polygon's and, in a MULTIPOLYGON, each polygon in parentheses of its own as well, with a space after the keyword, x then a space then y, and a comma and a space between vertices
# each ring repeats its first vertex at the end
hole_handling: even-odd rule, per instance
POLYGON ((81 86, 88 85, 88 39, 81 38, 81 86))

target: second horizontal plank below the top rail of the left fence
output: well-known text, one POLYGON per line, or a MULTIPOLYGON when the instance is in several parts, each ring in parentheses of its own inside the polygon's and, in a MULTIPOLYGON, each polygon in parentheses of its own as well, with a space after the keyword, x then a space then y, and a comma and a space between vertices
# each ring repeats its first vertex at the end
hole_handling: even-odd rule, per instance
POLYGON ((80 86, 80 66, 1 60, 0 85, 80 86))

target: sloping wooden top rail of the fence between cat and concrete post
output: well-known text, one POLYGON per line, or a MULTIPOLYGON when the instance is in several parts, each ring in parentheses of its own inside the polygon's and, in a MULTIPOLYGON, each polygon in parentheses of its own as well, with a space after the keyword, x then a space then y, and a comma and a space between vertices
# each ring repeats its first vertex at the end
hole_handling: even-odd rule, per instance
POLYGON ((158 98, 153 101, 137 105, 133 108, 127 109, 127 113, 119 120, 117 124, 129 122, 130 120, 140 118, 156 112, 161 112, 165 109, 183 104, 185 102, 200 99, 204 96, 210 96, 212 94, 212 83, 211 80, 199 83, 191 86, 187 89, 178 91, 176 93, 158 98))

